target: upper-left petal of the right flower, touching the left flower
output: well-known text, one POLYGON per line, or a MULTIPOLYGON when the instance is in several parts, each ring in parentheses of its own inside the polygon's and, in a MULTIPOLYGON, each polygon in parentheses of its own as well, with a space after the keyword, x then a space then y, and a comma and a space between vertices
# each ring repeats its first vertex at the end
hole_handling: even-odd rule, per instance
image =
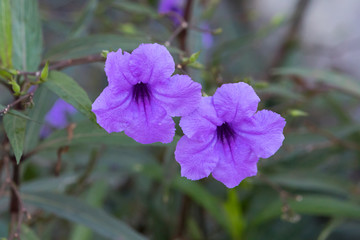
POLYGON ((181 118, 180 127, 187 137, 204 141, 215 134, 217 125, 221 125, 222 121, 217 117, 211 99, 202 97, 199 107, 181 118))

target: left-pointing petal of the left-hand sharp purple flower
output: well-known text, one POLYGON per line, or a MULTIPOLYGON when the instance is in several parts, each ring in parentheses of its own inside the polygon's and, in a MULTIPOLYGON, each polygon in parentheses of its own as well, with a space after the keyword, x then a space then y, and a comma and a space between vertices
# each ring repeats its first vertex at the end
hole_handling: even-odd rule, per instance
POLYGON ((123 131, 132 118, 131 111, 127 111, 131 105, 130 92, 115 93, 106 87, 92 105, 97 123, 108 133, 123 131))

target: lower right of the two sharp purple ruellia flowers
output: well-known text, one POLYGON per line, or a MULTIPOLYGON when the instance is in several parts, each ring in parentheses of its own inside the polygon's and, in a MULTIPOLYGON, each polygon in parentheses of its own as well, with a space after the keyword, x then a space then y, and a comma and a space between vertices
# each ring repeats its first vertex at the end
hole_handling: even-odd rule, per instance
POLYGON ((208 177, 232 188, 257 173, 259 158, 272 156, 284 140, 285 119, 268 110, 257 111, 260 99, 246 83, 224 84, 214 96, 180 121, 184 136, 175 158, 181 175, 208 177))

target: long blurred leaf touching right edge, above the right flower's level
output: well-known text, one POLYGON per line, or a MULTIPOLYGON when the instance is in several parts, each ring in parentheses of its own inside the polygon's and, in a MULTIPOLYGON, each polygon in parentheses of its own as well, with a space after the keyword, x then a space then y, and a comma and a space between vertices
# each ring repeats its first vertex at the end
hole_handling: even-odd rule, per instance
POLYGON ((344 74, 312 70, 306 68, 278 68, 274 70, 275 75, 294 75, 306 78, 308 81, 325 83, 345 93, 360 97, 360 82, 344 74))

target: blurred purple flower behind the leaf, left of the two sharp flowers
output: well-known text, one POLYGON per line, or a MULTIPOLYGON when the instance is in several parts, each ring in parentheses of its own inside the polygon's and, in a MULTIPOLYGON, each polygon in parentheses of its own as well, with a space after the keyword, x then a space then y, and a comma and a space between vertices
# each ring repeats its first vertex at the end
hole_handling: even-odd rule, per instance
POLYGON ((65 128, 69 124, 69 116, 76 113, 76 109, 62 99, 58 99, 45 116, 45 124, 40 135, 47 137, 52 129, 65 128))

